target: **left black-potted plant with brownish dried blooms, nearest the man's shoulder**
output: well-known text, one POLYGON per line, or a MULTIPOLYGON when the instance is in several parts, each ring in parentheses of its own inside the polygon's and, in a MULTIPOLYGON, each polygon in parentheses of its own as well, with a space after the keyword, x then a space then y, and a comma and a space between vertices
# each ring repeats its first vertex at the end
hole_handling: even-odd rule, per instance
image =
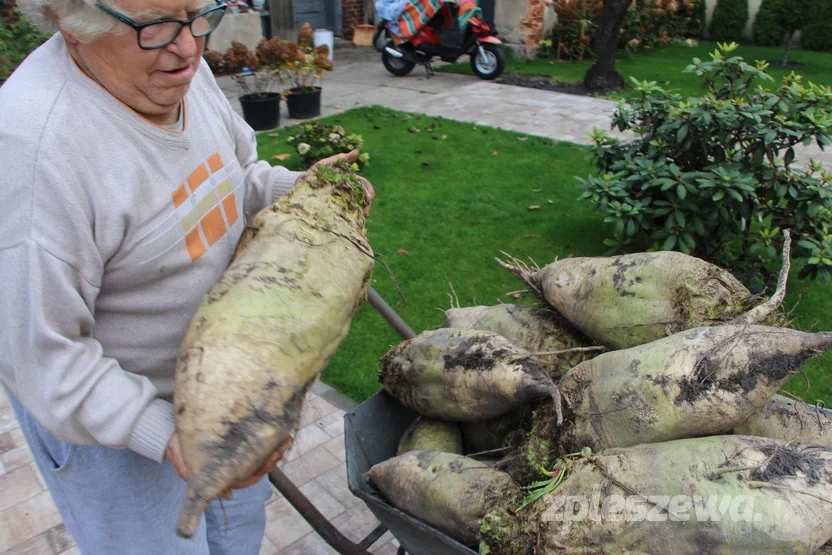
POLYGON ((225 54, 206 51, 205 60, 215 75, 230 75, 243 90, 243 119, 252 129, 274 129, 280 124, 282 87, 273 87, 274 82, 281 82, 283 44, 279 39, 262 39, 255 52, 233 41, 225 54))

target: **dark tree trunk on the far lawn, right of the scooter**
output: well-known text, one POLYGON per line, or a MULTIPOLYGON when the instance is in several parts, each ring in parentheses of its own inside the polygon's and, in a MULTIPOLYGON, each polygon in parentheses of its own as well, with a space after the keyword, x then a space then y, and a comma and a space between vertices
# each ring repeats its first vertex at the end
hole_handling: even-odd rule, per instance
POLYGON ((598 29, 592 39, 595 63, 584 77, 584 85, 592 91, 624 88, 624 76, 615 70, 615 55, 624 16, 633 0, 604 0, 598 29))

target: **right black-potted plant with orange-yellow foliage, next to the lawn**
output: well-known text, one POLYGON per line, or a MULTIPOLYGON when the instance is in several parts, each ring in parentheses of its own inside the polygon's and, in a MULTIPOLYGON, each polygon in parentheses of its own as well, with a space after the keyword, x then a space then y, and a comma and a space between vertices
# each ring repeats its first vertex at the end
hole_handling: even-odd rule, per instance
POLYGON ((312 26, 305 23, 298 32, 297 43, 285 44, 282 75, 289 88, 283 92, 289 117, 314 118, 321 114, 321 87, 316 83, 324 71, 332 71, 329 46, 313 46, 312 26))

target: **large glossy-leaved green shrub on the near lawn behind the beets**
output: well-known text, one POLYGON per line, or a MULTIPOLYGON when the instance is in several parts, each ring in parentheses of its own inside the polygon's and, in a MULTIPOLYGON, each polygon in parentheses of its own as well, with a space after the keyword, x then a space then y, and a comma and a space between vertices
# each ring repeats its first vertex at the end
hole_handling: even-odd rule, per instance
POLYGON ((583 180, 582 199, 614 223, 615 250, 679 250, 732 268, 750 287, 770 285, 781 232, 791 229, 801 277, 832 275, 832 173, 794 164, 794 147, 832 144, 832 88, 791 74, 774 91, 767 64, 728 57, 694 59, 702 97, 684 99, 633 79, 639 96, 620 104, 613 125, 633 131, 623 143, 595 131, 599 175, 583 180))

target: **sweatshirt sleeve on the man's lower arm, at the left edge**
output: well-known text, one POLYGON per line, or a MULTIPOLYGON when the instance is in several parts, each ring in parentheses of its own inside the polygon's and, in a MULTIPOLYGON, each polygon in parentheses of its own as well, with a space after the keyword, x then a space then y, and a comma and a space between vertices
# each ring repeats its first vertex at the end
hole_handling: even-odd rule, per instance
POLYGON ((162 462, 172 405, 91 336, 98 287, 33 239, 0 249, 0 378, 50 433, 162 462))

